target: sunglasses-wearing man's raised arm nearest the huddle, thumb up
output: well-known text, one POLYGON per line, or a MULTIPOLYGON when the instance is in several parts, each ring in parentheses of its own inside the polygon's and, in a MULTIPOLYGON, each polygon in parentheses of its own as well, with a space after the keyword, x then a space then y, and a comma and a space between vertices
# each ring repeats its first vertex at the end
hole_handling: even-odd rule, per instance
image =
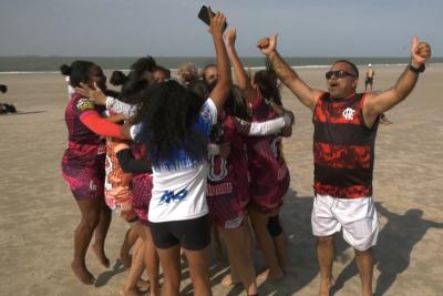
POLYGON ((281 82, 288 86, 300 102, 313 110, 316 100, 321 93, 319 90, 313 90, 306 84, 299 75, 293 71, 277 52, 277 34, 270 38, 262 38, 257 47, 266 54, 271 62, 274 71, 281 82))

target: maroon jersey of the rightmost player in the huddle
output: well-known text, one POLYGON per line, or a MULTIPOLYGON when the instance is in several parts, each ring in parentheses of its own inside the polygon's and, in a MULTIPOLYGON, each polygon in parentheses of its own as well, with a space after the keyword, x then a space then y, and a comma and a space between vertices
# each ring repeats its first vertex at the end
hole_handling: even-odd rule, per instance
MULTIPOLYGON (((249 108, 254 122, 277 118, 262 95, 259 95, 249 108)), ((253 205, 264 213, 281 206, 282 197, 289 187, 289 171, 280 147, 281 136, 276 134, 249 136, 247 140, 250 198, 253 205)))

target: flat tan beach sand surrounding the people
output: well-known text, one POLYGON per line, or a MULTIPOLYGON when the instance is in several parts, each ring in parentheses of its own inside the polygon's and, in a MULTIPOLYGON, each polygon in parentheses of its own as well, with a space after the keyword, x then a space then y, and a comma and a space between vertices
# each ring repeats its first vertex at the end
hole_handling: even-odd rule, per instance
MULTIPOLYGON (((374 67, 374 90, 392 86, 404 67, 374 67)), ((364 74, 365 69, 360 69, 364 74)), ((326 69, 300 69, 302 79, 324 89, 326 69)), ((374 251, 375 295, 443 295, 443 65, 431 65, 413 93, 387 113, 377 140, 374 200, 380 235, 374 251)), ((60 162, 66 146, 60 74, 0 74, 9 92, 0 102, 20 114, 0 115, 0 294, 119 295, 126 272, 116 264, 127 225, 113 217, 106 252, 114 268, 105 269, 89 254, 95 286, 80 285, 70 269, 73 231, 80 212, 65 185, 60 162)), ((360 79, 359 90, 363 89, 360 79)), ((297 118, 285 156, 291 183, 281 217, 288 234, 288 268, 284 279, 259 283, 260 295, 317 295, 319 271, 311 235, 312 123, 311 112, 284 90, 284 103, 297 118)), ((359 295, 353 251, 338 242, 333 274, 336 295, 359 295)), ((264 258, 255 251, 257 269, 264 258)), ((224 287, 226 267, 213 266, 214 295, 244 295, 240 286, 224 287)), ((183 295, 192 295, 185 267, 183 295)))

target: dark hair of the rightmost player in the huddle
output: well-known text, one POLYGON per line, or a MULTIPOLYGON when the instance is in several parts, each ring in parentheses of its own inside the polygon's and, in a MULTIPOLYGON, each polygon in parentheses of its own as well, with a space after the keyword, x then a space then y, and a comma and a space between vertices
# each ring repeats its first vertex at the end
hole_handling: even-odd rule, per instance
POLYGON ((277 74, 268 59, 265 63, 266 70, 260 70, 254 75, 254 83, 257 84, 264 98, 272 99, 274 102, 281 105, 280 84, 277 74))

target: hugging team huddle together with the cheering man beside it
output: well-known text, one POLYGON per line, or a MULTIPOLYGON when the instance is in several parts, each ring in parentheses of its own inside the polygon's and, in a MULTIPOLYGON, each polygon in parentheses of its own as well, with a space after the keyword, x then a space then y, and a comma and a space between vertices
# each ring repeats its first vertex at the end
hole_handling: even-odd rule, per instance
POLYGON ((85 263, 93 235, 92 252, 110 266, 104 243, 113 211, 130 225, 121 247, 128 267, 124 295, 143 294, 145 271, 150 295, 178 295, 182 258, 194 295, 212 295, 210 242, 218 236, 230 265, 224 284, 241 283, 247 295, 258 295, 257 277, 284 277, 286 237, 279 212, 290 176, 281 139, 291 135, 295 118, 282 106, 281 80, 313 111, 312 231, 318 237, 319 295, 328 295, 333 285, 333 234, 341 227, 356 248, 363 295, 371 295, 379 115, 413 89, 431 54, 429 45, 414 41, 411 65, 387 92, 357 94, 358 69, 347 60, 326 73, 329 92, 322 92, 310 89, 284 62, 276 37, 258 42, 267 67, 249 76, 236 52, 235 29, 224 30, 226 18, 219 12, 209 18, 216 63, 205 67, 200 78, 186 65, 174 79, 147 57, 127 74, 112 74, 111 83, 121 86, 116 92, 106 86, 97 64, 75 61, 61 67, 72 86, 62 172, 81 211, 74 275, 83 284, 95 282, 85 263), (265 271, 255 269, 253 238, 266 258, 265 271))

